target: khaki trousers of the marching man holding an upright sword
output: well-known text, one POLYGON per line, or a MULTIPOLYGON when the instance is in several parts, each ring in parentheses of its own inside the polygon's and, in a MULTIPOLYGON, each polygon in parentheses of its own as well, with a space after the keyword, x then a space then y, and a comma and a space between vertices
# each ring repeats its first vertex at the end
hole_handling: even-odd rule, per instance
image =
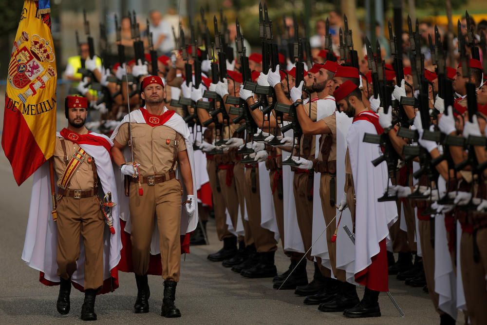
MULTIPOLYGON (((130 215, 133 270, 138 275, 149 269, 150 242, 155 223, 159 229, 162 277, 179 281, 181 272, 181 183, 177 179, 155 185, 131 183, 130 215)), ((184 225, 186 227, 186 225, 184 225)))

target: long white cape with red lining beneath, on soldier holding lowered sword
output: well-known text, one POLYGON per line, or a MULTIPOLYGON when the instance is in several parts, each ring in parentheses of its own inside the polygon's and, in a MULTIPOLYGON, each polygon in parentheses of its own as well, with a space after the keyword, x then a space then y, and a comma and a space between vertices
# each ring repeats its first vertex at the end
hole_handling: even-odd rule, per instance
POLYGON ((388 185, 387 165, 372 164, 381 153, 379 145, 363 142, 366 133, 377 134, 374 124, 357 120, 347 135, 356 192, 355 274, 372 264, 372 257, 380 251, 379 242, 390 240, 389 227, 397 220, 395 202, 377 202, 388 185))

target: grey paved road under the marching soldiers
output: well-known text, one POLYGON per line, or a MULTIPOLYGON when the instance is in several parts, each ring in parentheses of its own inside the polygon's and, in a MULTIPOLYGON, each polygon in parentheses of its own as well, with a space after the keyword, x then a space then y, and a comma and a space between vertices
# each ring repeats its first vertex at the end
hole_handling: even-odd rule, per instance
MULTIPOLYGON (((58 287, 45 287, 38 282, 38 272, 28 268, 20 259, 32 180, 17 187, 7 159, 0 153, 0 324, 78 324, 83 300, 73 289, 72 308, 67 316, 56 311, 58 287)), ((206 260, 206 255, 220 249, 214 222, 209 222, 211 245, 191 248, 182 263, 181 282, 177 287, 176 303, 181 319, 161 318, 162 281, 150 277, 150 313, 132 313, 136 295, 132 274, 120 274, 120 288, 111 294, 98 296, 96 312, 103 324, 438 324, 427 294, 421 288, 411 288, 390 279, 391 292, 406 313, 400 318, 385 294, 379 302, 381 318, 350 320, 340 313, 322 313, 316 306, 304 306, 302 297, 292 291, 276 291, 270 279, 244 279, 206 260)), ((280 250, 276 254, 280 272, 288 261, 280 250)), ((311 278, 313 268, 308 264, 311 278)), ((363 290, 358 292, 361 297, 363 290)))

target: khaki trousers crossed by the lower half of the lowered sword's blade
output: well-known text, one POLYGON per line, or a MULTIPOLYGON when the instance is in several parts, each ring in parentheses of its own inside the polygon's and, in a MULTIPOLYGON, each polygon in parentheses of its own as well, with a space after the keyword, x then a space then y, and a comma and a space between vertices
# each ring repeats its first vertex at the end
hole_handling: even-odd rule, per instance
MULTIPOLYGON (((308 251, 313 241, 313 200, 308 200, 308 173, 294 173, 294 199, 296 201, 296 216, 304 244, 304 251, 308 251)), ((306 254, 312 260, 311 250, 306 254)))

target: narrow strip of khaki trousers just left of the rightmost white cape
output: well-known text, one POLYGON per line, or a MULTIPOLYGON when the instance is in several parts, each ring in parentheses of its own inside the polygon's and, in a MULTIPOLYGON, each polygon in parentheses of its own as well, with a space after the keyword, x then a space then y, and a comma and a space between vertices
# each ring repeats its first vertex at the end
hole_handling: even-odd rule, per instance
MULTIPOLYGON (((419 211, 418 211, 419 213, 419 211)), ((426 284, 430 293, 431 301, 436 312, 443 315, 444 312, 438 308, 438 294, 434 291, 434 248, 431 246, 431 222, 429 220, 418 220, 421 251, 423 253, 423 268, 425 270, 426 284)))

